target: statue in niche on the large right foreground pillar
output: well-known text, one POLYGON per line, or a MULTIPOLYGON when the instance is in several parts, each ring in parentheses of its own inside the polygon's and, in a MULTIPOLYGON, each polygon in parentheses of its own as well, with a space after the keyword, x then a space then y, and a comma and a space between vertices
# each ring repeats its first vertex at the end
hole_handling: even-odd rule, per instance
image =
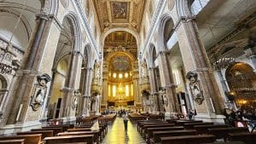
POLYGON ((195 72, 188 72, 187 79, 189 79, 189 88, 191 90, 191 94, 194 97, 195 102, 198 105, 202 104, 202 101, 205 100, 204 95, 203 95, 203 91, 201 89, 201 82, 198 79, 198 74, 195 72))

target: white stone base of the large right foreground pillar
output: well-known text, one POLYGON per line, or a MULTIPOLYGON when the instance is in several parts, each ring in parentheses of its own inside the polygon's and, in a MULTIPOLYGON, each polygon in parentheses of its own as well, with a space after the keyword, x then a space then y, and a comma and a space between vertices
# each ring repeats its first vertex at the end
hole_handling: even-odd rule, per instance
POLYGON ((203 122, 213 122, 217 124, 224 124, 224 115, 209 115, 206 113, 198 113, 195 120, 202 120, 203 122))

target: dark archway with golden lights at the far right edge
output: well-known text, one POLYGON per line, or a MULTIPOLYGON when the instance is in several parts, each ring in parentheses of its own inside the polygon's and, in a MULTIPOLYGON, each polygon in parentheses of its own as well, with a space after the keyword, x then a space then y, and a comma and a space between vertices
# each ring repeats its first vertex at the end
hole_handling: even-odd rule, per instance
POLYGON ((256 107, 256 74, 251 66, 242 62, 230 66, 226 71, 226 79, 231 99, 235 98, 237 106, 242 109, 256 107))

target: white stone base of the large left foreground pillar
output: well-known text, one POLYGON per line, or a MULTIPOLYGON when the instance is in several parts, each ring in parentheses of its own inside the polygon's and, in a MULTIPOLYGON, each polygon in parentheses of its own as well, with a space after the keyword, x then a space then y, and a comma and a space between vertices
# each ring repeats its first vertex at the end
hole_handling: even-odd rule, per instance
POLYGON ((8 124, 0 127, 0 135, 9 135, 20 131, 29 131, 39 129, 42 124, 38 121, 25 122, 24 124, 8 124))

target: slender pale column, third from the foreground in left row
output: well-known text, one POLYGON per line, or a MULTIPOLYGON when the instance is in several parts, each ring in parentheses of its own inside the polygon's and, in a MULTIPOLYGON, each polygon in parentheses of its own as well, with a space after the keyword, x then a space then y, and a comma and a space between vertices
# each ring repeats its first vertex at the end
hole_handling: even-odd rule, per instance
POLYGON ((93 77, 93 69, 87 68, 86 82, 84 84, 84 95, 83 95, 83 116, 90 116, 90 88, 93 77))

